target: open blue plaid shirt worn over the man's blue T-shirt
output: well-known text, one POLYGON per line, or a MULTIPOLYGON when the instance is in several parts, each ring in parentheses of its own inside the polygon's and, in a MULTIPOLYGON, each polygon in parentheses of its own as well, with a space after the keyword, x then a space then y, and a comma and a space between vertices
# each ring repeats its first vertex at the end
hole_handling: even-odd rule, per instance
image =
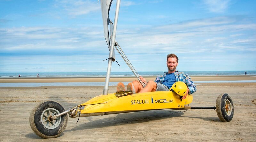
MULTIPOLYGON (((162 84, 166 74, 168 74, 168 72, 164 72, 164 75, 157 76, 155 82, 162 84)), ((182 81, 188 86, 188 89, 189 89, 188 94, 192 94, 192 93, 196 92, 196 85, 193 83, 193 81, 188 76, 188 74, 176 71, 176 72, 174 72, 174 75, 176 77, 176 82, 182 81)))

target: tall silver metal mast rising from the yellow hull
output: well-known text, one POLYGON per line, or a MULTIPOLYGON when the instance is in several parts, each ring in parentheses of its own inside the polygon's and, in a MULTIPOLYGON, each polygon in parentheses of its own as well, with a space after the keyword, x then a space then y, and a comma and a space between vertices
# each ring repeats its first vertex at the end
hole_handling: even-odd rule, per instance
POLYGON ((116 39, 116 29, 117 29, 117 20, 118 20, 119 8, 120 8, 120 1, 121 0, 117 0, 116 1, 116 13, 115 13, 114 26, 113 26, 113 33, 112 33, 112 38, 111 38, 111 46, 110 46, 109 57, 108 57, 108 69, 107 69, 107 75, 106 75, 103 95, 107 95, 108 94, 108 85, 109 85, 110 72, 111 72, 111 66, 112 66, 112 59, 113 59, 113 53, 114 53, 114 46, 115 46, 115 39, 116 39))

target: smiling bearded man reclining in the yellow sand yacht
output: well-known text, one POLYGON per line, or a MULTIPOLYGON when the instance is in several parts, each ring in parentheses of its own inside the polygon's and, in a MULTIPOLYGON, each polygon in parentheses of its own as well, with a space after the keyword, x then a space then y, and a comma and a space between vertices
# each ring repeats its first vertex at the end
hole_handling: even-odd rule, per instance
MULTIPOLYGON (((196 92, 196 86, 188 74, 176 71, 179 58, 175 54, 169 54, 167 55, 166 59, 168 72, 164 72, 164 75, 156 77, 155 81, 150 80, 146 82, 146 79, 140 76, 140 80, 144 82, 146 86, 143 88, 142 84, 138 80, 135 80, 127 85, 127 90, 135 90, 136 93, 169 91, 175 82, 182 81, 187 85, 186 94, 182 97, 182 99, 185 99, 188 94, 196 92)), ((117 91, 124 90, 124 84, 122 82, 118 83, 117 91)))

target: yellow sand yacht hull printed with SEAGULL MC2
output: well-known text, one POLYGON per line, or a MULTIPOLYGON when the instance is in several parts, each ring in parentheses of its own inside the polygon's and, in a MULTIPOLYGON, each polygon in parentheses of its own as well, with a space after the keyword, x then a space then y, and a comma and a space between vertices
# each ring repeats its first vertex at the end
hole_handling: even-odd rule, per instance
POLYGON ((171 91, 147 92, 122 97, 118 97, 116 93, 99 95, 81 104, 84 108, 80 111, 80 117, 146 110, 182 109, 193 100, 193 95, 188 95, 183 100, 180 97, 171 91))

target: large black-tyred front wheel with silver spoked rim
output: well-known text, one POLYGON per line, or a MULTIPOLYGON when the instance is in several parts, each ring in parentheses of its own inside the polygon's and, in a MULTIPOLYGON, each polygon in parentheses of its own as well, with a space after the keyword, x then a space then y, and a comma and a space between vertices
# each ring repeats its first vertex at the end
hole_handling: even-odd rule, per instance
POLYGON ((31 111, 29 117, 32 130, 36 135, 42 138, 58 137, 67 126, 67 114, 62 115, 53 121, 49 121, 47 116, 50 116, 53 113, 60 114, 63 111, 65 111, 64 107, 55 101, 44 101, 38 103, 31 111))

